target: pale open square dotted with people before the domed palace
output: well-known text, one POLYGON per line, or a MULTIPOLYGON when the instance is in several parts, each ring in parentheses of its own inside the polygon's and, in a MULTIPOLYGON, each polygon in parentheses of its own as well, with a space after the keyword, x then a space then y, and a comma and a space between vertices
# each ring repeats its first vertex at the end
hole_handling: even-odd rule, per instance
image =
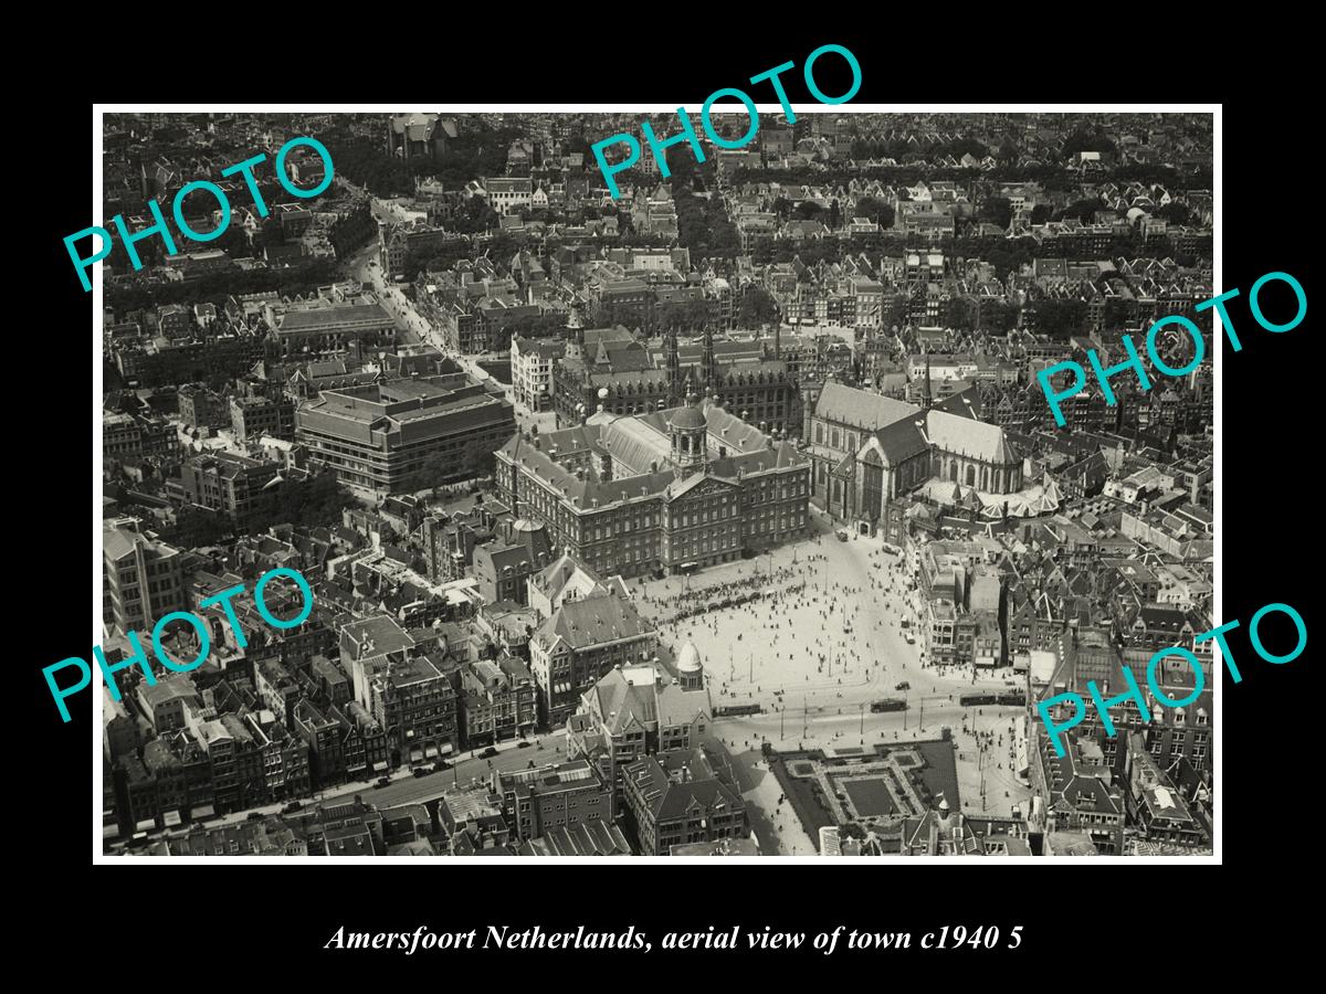
POLYGON ((777 750, 834 749, 934 740, 947 728, 963 810, 1008 816, 1025 806, 1030 791, 1012 757, 1025 708, 959 704, 963 693, 1009 690, 1012 671, 928 665, 918 637, 914 561, 879 538, 842 533, 847 541, 839 541, 821 513, 813 514, 812 534, 757 558, 633 588, 662 640, 699 649, 716 712, 762 709, 715 721, 748 777, 747 799, 764 815, 756 834, 772 834, 778 855, 818 852, 789 806, 778 803, 761 742, 777 750), (753 592, 760 596, 720 606, 753 592), (910 632, 916 632, 911 641, 910 632), (871 702, 887 697, 906 698, 907 708, 871 712, 871 702))

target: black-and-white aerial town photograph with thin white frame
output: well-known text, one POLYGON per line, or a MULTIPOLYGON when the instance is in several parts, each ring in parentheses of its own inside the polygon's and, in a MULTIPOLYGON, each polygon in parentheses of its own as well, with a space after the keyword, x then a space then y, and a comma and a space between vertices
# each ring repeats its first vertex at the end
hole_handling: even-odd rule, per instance
POLYGON ((98 110, 98 861, 1219 857, 1219 109, 754 99, 98 110))

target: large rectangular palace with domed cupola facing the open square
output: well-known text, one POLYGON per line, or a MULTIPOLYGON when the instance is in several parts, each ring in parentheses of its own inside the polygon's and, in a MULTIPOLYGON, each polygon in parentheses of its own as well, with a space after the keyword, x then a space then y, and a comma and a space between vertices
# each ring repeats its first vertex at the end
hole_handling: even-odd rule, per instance
POLYGON ((497 488, 554 547, 636 577, 708 566, 809 534, 810 461, 712 400, 517 435, 497 488))

